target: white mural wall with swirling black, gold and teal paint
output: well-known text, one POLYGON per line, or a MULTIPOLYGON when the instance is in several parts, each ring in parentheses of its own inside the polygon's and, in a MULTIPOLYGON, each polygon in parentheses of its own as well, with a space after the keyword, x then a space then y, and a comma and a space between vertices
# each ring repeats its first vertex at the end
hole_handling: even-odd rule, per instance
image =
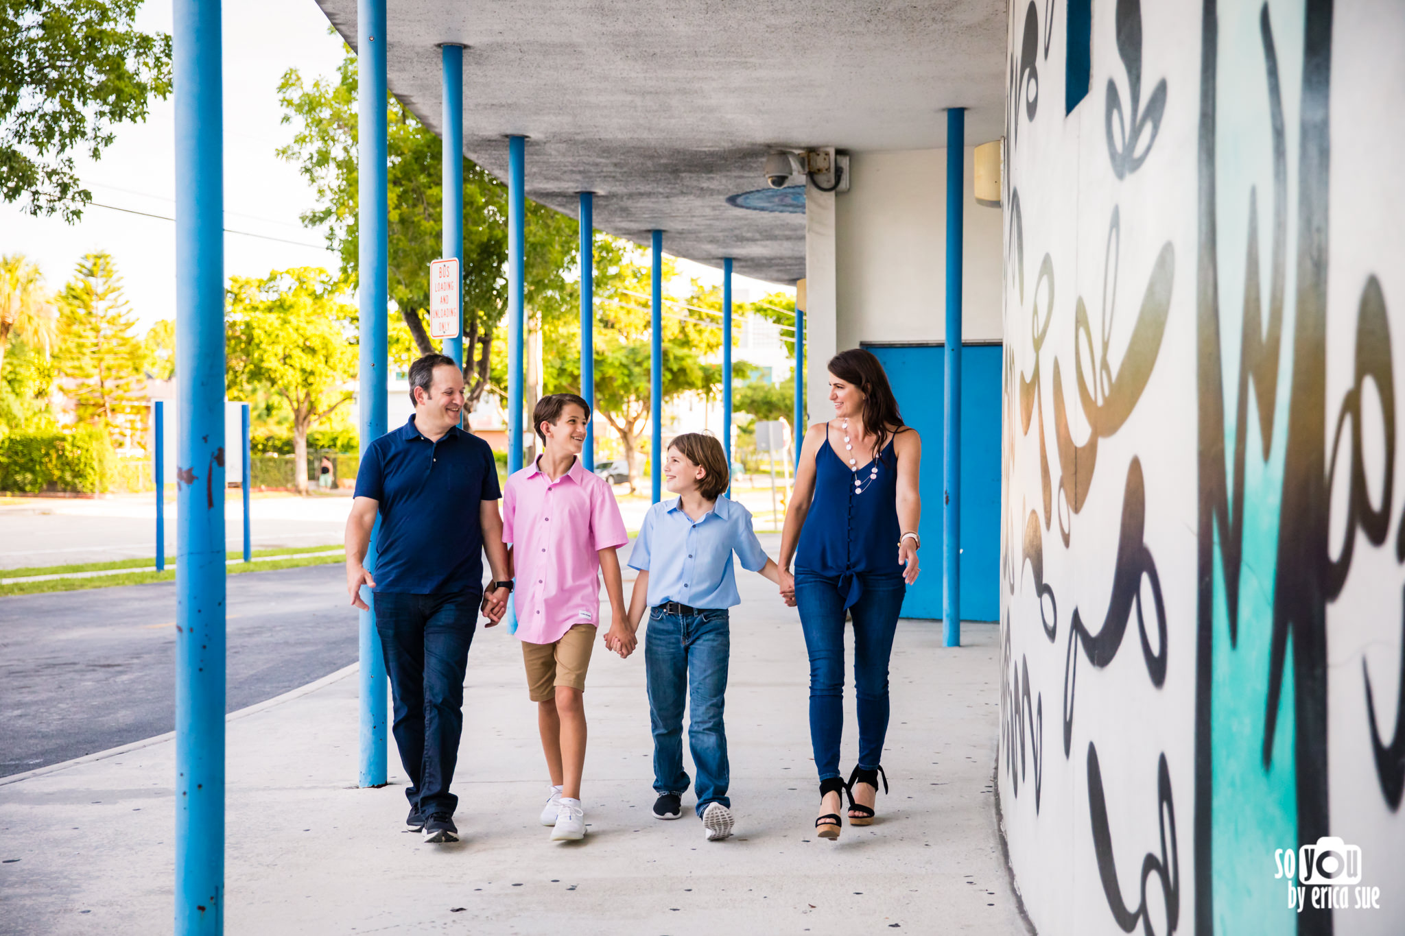
POLYGON ((1402 933, 1405 4, 1093 0, 1075 102, 1079 7, 1010 7, 1016 885, 1045 936, 1402 933))

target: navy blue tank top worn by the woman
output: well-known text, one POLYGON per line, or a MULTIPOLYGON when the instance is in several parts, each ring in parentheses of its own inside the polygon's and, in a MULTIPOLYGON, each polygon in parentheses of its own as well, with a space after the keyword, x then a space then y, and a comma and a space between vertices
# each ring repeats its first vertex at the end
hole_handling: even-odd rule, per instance
POLYGON ((815 455, 815 497, 799 530, 797 571, 839 580, 849 608, 860 575, 902 578, 898 564, 898 453, 892 439, 868 464, 850 469, 829 445, 815 455))

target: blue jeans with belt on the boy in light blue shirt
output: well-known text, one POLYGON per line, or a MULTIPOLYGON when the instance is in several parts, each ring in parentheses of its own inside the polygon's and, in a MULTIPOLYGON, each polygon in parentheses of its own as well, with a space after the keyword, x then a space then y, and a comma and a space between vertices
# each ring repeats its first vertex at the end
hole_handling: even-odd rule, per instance
POLYGON ((725 608, 697 615, 649 612, 643 639, 643 668, 649 685, 649 724, 653 728, 653 790, 681 796, 688 789, 683 769, 683 702, 688 702, 688 749, 698 772, 697 814, 708 803, 731 807, 726 786, 726 730, 722 696, 732 633, 725 608))

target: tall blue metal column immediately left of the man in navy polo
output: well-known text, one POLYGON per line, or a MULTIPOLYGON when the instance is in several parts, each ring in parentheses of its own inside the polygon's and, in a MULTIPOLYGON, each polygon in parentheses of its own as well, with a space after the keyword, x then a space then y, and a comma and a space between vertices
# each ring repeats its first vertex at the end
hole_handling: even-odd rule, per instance
MULTIPOLYGON (((360 175, 358 223, 361 243, 361 457, 371 442, 385 435, 386 418, 386 314, 389 299, 389 246, 386 202, 385 114, 385 0, 357 0, 357 170, 360 175)), ((365 567, 375 571, 375 539, 371 532, 365 567)), ((358 786, 385 786, 386 681, 381 639, 375 633, 375 603, 370 594, 361 612, 361 745, 358 786)))

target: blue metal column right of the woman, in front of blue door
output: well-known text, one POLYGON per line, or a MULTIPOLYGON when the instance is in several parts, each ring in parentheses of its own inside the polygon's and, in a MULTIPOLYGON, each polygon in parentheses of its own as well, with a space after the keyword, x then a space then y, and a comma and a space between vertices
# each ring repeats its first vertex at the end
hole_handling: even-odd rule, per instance
POLYGON ((941 624, 947 647, 961 646, 961 239, 965 202, 965 108, 947 111, 947 347, 946 504, 941 624))

